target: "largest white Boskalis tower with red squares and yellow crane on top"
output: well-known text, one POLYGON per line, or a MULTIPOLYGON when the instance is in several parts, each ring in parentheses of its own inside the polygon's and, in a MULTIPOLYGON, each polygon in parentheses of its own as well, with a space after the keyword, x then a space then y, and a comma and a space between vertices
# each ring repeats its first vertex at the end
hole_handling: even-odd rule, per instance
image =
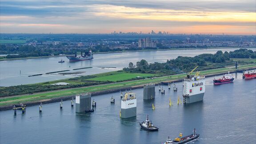
MULTIPOLYGON (((196 66, 197 68, 198 66, 196 66)), ((205 77, 196 72, 192 75, 194 68, 183 81, 183 103, 190 104, 204 99, 205 77)))

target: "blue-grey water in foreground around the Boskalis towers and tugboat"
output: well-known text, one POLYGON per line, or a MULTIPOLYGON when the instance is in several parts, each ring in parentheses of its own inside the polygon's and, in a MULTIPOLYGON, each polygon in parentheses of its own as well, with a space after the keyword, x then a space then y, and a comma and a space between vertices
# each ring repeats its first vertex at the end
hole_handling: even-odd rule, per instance
POLYGON ((120 120, 120 94, 93 96, 97 108, 91 114, 75 114, 70 100, 44 104, 43 112, 38 106, 28 107, 26 114, 12 110, 0 112, 1 144, 161 144, 168 136, 176 138, 180 132, 200 133, 194 144, 253 144, 256 141, 256 79, 243 80, 235 75, 233 83, 214 86, 213 77, 206 79, 203 102, 177 105, 177 96, 182 95, 182 83, 177 83, 178 92, 164 86, 165 95, 156 87, 156 98, 143 101, 143 89, 136 89, 137 117, 120 120), (110 104, 113 96, 115 104, 110 104), (169 99, 173 106, 169 107, 169 99), (156 110, 152 110, 154 103, 156 110), (146 119, 159 127, 158 132, 140 128, 139 122, 146 119), (239 142, 238 142, 239 140, 239 142))

